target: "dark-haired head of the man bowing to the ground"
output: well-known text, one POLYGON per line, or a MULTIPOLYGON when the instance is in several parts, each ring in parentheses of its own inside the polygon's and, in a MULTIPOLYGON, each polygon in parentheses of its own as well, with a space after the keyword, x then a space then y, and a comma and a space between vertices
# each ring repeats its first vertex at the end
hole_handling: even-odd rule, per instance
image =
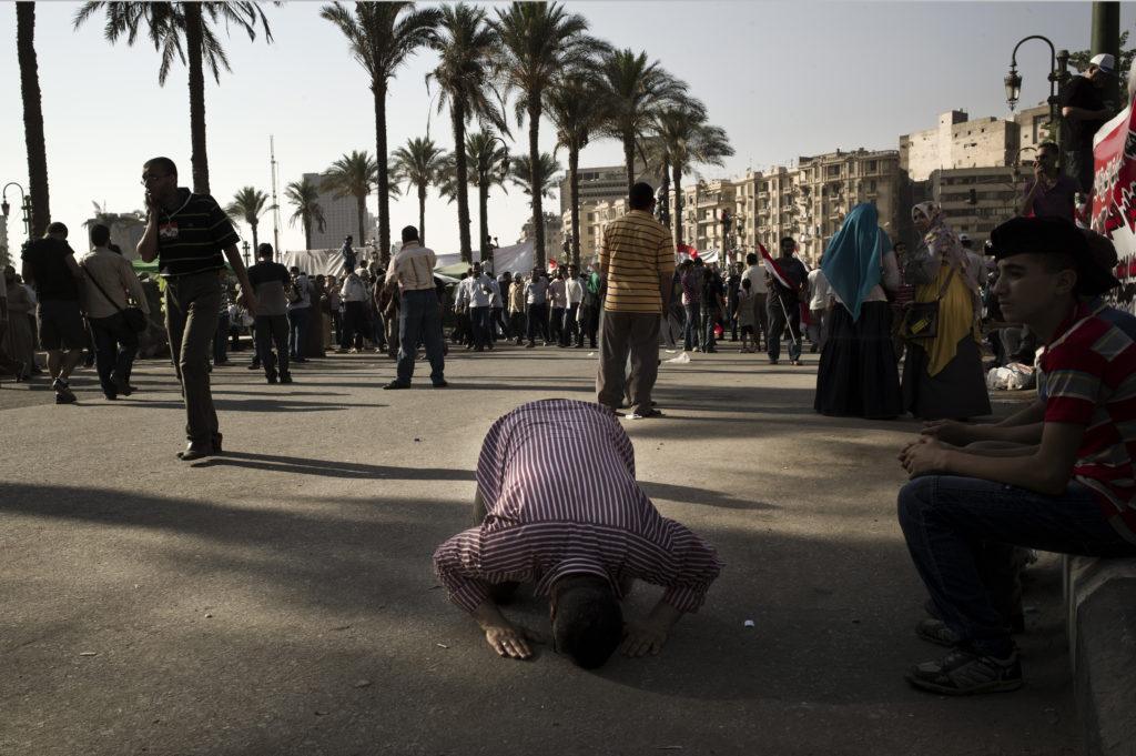
POLYGON ((624 613, 611 583, 598 575, 567 575, 552 596, 557 651, 585 670, 603 666, 624 638, 624 613))

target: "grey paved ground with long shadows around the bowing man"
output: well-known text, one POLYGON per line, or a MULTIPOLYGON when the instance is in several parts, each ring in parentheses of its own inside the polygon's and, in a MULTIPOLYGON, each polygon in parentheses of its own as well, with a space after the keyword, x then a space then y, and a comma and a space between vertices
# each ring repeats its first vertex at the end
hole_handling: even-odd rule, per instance
MULTIPOLYGON (((1056 562, 1028 573, 1024 689, 910 689, 939 651, 895 522, 914 422, 819 417, 816 356, 733 347, 665 364, 667 416, 626 422, 644 490, 727 566, 662 655, 599 673, 498 658, 429 560, 488 425, 591 398, 586 350, 451 354, 450 389, 419 368, 398 392, 374 356, 267 387, 239 352, 215 372, 226 454, 192 466, 164 363, 118 402, 90 371, 76 406, 5 379, 0 754, 1078 754, 1056 562)), ((543 601, 509 614, 546 629, 543 601)))

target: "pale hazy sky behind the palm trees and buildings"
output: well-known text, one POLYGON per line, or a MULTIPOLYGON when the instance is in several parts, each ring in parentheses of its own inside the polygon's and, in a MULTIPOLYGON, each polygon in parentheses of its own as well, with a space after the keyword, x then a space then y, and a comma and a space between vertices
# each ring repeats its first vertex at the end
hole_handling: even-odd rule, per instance
MULTIPOLYGON (((327 168, 351 150, 375 151, 373 98, 368 80, 345 38, 319 18, 321 2, 262 3, 274 42, 250 42, 234 32, 226 44, 232 73, 218 85, 206 80, 210 182, 223 205, 242 186, 269 193, 269 135, 275 136, 282 202, 281 244, 303 247, 302 229, 290 226, 293 208, 284 185, 303 173, 327 168)), ((350 3, 349 3, 350 5, 350 3)), ((504 3, 478 3, 490 8, 504 3)), ((788 165, 799 156, 852 150, 896 149, 900 134, 930 128, 939 113, 961 108, 971 117, 1009 115, 1002 78, 1013 45, 1042 34, 1058 49, 1087 49, 1088 2, 568 2, 591 33, 620 48, 645 50, 702 99, 711 123, 724 127, 736 150, 725 168, 700 167, 707 178, 733 177, 747 167, 788 165)), ((36 5, 35 49, 48 147, 51 217, 72 227, 83 247, 82 223, 92 201, 116 213, 140 209, 142 163, 173 158, 190 183, 187 72, 176 64, 158 85, 158 53, 143 39, 132 48, 110 45, 102 18, 78 31, 72 19, 81 3, 36 5)), ((1121 5, 1121 28, 1136 20, 1133 3, 1121 5)), ((0 183, 27 188, 27 158, 16 59, 16 8, 0 2, 0 183)), ((425 75, 436 56, 421 51, 391 84, 387 140, 393 150, 427 132, 446 149, 452 133, 445 114, 431 102, 425 75)), ((1018 52, 1024 77, 1021 105, 1049 95, 1049 47, 1037 40, 1018 52)), ((510 107, 510 118, 511 118, 510 107)), ((541 124, 542 149, 554 146, 541 124)), ((527 152, 527 132, 513 127, 513 153, 527 152)), ((567 153, 558 155, 567 165, 567 153)), ((582 166, 619 165, 613 140, 595 140, 582 166)), ((692 176, 692 178, 694 178, 692 176)), ((684 181, 684 183, 686 183, 684 181)), ((8 190, 12 251, 24 241, 8 190)), ((377 199, 368 202, 377 213, 377 199)), ((558 200, 545 207, 559 210, 558 200)), ((476 201, 470 208, 477 235, 476 201)), ((491 194, 490 232, 513 243, 529 216, 518 188, 491 194)), ((417 223, 417 199, 391 203, 391 224, 417 223)), ((248 226, 239 231, 251 238, 248 226)), ((270 214, 261 240, 272 240, 270 214)), ((458 251, 457 207, 431 193, 427 244, 458 251)))

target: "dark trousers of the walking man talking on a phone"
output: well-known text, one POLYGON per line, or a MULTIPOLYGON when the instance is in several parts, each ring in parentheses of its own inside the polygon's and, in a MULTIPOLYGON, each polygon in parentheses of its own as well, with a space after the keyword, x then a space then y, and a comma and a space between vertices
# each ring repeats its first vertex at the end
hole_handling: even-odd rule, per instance
POLYGON ((166 280, 169 354, 185 399, 185 437, 195 447, 220 442, 209 389, 209 349, 217 333, 220 279, 216 271, 166 280))

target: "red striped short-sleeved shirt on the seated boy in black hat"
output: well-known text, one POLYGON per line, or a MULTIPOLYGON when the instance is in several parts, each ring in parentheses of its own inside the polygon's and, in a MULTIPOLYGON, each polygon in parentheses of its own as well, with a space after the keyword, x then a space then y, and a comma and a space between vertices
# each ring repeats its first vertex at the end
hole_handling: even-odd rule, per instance
POLYGON ((1092 489, 1117 532, 1136 542, 1136 343, 1085 304, 1058 333, 1039 362, 1045 422, 1085 426, 1074 479, 1092 489))

